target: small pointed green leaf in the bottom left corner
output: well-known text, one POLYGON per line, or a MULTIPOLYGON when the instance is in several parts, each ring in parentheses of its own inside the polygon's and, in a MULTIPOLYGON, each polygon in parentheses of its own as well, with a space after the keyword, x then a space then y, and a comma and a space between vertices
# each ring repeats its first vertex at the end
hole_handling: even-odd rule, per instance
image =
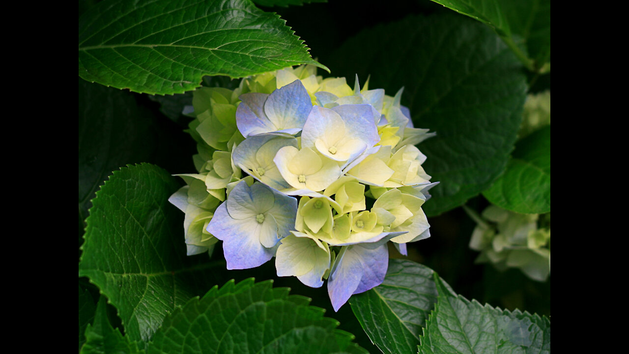
POLYGON ((111 326, 107 317, 107 300, 104 296, 98 300, 94 323, 87 325, 85 336, 87 340, 81 348, 81 354, 144 353, 143 350, 138 350, 138 343, 130 341, 117 328, 111 326))

